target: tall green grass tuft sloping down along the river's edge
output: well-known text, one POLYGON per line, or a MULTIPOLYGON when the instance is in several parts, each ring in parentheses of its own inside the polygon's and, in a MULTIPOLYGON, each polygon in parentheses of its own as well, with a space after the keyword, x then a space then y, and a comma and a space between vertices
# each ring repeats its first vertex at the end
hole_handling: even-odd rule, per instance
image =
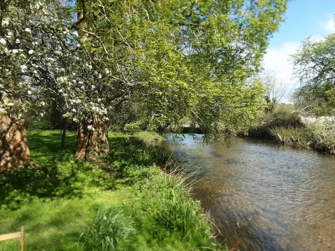
MULTIPOLYGON (((144 196, 143 208, 156 223, 154 235, 165 238, 170 233, 173 238, 198 243, 213 240, 212 223, 204 213, 199 201, 194 201, 188 190, 183 188, 180 177, 171 176, 158 168, 147 170, 146 183, 140 190, 144 196)), ((185 174, 182 174, 185 177, 185 174)))

